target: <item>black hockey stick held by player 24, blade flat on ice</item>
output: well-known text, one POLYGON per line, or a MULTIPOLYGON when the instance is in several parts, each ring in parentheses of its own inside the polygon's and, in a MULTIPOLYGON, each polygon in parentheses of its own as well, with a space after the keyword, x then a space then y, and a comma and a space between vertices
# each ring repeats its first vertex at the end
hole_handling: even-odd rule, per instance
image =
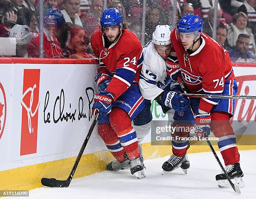
POLYGON ((99 117, 99 114, 96 115, 96 117, 94 118, 94 120, 92 122, 92 125, 91 125, 91 127, 89 129, 89 132, 88 132, 86 138, 84 139, 84 143, 82 144, 82 147, 81 147, 81 149, 79 151, 77 159, 76 159, 76 161, 74 163, 74 166, 73 166, 73 168, 72 168, 72 170, 71 170, 67 180, 56 180, 55 178, 42 178, 41 179, 41 183, 44 186, 46 186, 46 187, 69 187, 69 184, 70 184, 70 182, 71 182, 71 180, 72 180, 72 178, 74 176, 74 173, 75 173, 75 171, 77 169, 77 166, 78 166, 79 161, 80 161, 80 159, 82 157, 84 149, 85 149, 85 147, 86 147, 86 145, 87 145, 87 143, 89 141, 89 138, 90 138, 90 136, 92 134, 92 131, 93 131, 93 129, 94 129, 96 123, 97 123, 98 117, 99 117))

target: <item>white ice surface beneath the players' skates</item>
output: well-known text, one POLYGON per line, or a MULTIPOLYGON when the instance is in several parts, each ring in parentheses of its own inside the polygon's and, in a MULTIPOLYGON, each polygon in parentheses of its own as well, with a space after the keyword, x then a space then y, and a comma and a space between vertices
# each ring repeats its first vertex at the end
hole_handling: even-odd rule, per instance
MULTIPOLYGON (((218 157, 222 159, 218 152, 218 157)), ((179 168, 161 175, 169 158, 146 160, 146 178, 136 179, 128 169, 100 172, 73 179, 68 188, 42 187, 29 192, 30 199, 255 199, 256 150, 240 151, 246 187, 237 194, 231 187, 220 189, 215 175, 220 167, 211 152, 188 154, 187 175, 179 168)))

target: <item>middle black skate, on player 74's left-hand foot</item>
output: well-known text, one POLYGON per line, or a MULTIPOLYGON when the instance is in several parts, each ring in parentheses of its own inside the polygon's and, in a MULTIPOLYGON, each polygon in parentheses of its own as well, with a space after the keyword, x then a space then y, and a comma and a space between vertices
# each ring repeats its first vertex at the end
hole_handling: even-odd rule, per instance
POLYGON ((177 157, 172 154, 171 157, 162 165, 162 169, 164 170, 162 172, 162 175, 172 172, 179 167, 182 167, 183 172, 187 174, 187 169, 189 168, 189 166, 190 164, 187 158, 187 154, 185 154, 183 157, 177 157))

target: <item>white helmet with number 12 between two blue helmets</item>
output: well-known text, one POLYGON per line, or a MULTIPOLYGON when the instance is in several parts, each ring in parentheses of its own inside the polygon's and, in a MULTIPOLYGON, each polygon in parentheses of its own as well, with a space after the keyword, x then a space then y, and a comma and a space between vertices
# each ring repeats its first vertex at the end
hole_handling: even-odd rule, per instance
POLYGON ((153 32, 153 43, 156 45, 168 45, 171 43, 171 28, 169 25, 158 25, 153 32))

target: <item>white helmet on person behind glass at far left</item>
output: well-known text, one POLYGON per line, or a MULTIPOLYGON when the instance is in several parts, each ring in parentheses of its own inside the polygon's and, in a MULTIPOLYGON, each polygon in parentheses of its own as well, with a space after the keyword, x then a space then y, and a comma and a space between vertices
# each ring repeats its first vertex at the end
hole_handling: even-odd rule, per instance
POLYGON ((38 36, 38 34, 31 32, 31 28, 27 25, 16 24, 10 31, 9 37, 16 38, 16 45, 25 45, 28 44, 36 36, 38 36))

